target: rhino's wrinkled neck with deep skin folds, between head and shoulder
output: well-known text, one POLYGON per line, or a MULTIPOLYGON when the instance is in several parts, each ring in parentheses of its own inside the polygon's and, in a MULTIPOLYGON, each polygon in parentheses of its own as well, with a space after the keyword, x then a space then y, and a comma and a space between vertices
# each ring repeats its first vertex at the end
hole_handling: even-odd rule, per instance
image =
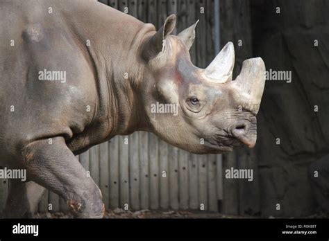
POLYGON ((81 44, 90 40, 90 46, 84 48, 94 71, 98 97, 92 125, 101 127, 101 139, 145 130, 139 87, 144 68, 139 47, 154 26, 101 3, 86 4, 76 6, 74 12, 83 12, 87 20, 69 19, 69 24, 81 44))

